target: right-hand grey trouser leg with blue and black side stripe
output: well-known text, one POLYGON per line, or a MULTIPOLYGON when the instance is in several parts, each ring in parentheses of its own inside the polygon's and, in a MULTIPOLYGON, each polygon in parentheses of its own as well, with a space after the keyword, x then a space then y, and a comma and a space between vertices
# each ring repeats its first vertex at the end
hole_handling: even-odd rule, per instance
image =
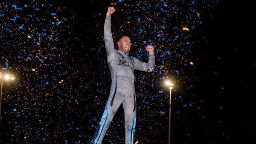
POLYGON ((122 102, 125 111, 125 144, 134 144, 134 132, 136 124, 136 96, 131 89, 122 102))

